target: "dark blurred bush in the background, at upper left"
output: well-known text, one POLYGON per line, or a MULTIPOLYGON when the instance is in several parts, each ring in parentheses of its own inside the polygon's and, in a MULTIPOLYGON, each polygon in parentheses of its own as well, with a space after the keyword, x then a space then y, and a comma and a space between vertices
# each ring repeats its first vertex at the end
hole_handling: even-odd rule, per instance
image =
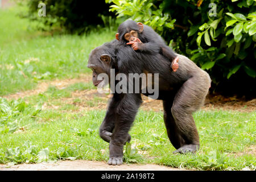
POLYGON ((42 30, 49 30, 49 28, 54 30, 60 27, 72 33, 81 33, 98 24, 103 25, 105 22, 102 17, 113 16, 104 1, 88 3, 79 0, 31 0, 27 1, 27 5, 29 7, 28 14, 23 16, 40 22, 39 28, 42 30), (46 5, 45 17, 38 15, 38 11, 42 8, 39 7, 41 2, 46 5))

